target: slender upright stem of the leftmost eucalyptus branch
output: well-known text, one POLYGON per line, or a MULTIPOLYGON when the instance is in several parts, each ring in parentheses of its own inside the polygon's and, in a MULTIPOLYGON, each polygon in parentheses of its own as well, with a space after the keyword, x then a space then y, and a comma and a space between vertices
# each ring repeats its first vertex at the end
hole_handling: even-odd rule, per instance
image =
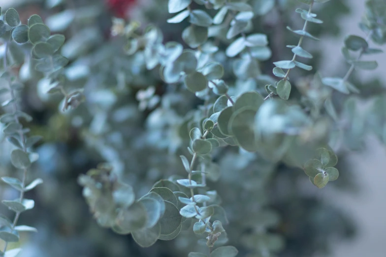
MULTIPOLYGON (((6 60, 7 52, 8 52, 8 42, 5 42, 4 44, 5 44, 5 52, 4 52, 3 64, 4 64, 4 72, 6 72, 8 70, 7 60, 6 60)), ((9 92, 11 94, 11 99, 15 99, 15 91, 11 87, 11 83, 12 82, 10 80, 10 77, 8 76, 7 79, 8 79, 8 89, 9 89, 9 92)), ((15 123, 21 124, 20 121, 19 121, 19 117, 16 115, 16 112, 18 111, 18 107, 17 107, 16 101, 14 101, 12 103, 12 108, 13 108, 13 114, 14 114, 15 123)), ((19 136, 20 136, 20 140, 21 140, 21 144, 22 144, 22 147, 23 147, 23 151, 27 152, 27 145, 26 145, 26 140, 25 140, 23 131, 19 130, 18 133, 19 133, 19 136)), ((28 172, 28 169, 24 168, 23 169, 23 177, 22 177, 22 188, 23 189, 21 190, 20 197, 19 197, 20 202, 22 202, 23 198, 24 198, 24 192, 25 192, 24 188, 26 187, 27 172, 28 172)), ((20 217, 20 212, 16 212, 15 218, 13 219, 13 222, 12 222, 12 227, 11 227, 12 230, 15 228, 15 226, 17 224, 17 221, 19 220, 19 217, 20 217)), ((7 250, 7 247, 8 247, 8 242, 5 242, 3 253, 5 253, 5 251, 7 250)))

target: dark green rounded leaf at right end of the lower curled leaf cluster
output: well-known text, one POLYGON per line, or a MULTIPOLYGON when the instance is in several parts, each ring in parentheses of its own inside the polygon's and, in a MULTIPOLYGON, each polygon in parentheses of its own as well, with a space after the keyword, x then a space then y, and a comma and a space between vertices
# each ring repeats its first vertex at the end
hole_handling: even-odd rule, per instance
POLYGON ((159 223, 161 225, 161 234, 170 235, 181 224, 182 216, 173 203, 165 201, 165 207, 165 214, 162 216, 159 223))

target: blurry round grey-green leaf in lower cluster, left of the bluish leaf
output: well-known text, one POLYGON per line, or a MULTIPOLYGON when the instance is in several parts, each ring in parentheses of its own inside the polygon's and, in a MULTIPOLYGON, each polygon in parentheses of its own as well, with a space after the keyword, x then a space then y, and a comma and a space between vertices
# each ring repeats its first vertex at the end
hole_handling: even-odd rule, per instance
POLYGON ((122 230, 135 231, 144 228, 147 219, 145 206, 140 202, 135 202, 129 208, 119 211, 116 223, 122 230))

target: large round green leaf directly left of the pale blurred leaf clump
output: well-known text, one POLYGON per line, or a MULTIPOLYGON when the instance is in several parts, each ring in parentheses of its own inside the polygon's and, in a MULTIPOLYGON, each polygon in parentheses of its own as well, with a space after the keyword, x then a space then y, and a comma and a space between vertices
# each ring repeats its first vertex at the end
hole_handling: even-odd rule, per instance
POLYGON ((256 110, 251 107, 244 107, 233 112, 229 119, 228 130, 237 140, 240 147, 247 151, 257 151, 255 138, 256 110))

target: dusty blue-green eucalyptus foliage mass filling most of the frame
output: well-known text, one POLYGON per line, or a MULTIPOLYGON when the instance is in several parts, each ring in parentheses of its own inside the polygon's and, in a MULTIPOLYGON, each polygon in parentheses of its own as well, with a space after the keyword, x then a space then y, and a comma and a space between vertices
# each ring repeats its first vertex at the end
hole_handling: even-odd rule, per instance
MULTIPOLYGON (((331 236, 350 234, 347 217, 298 185, 307 176, 319 188, 344 177, 336 150, 342 142, 360 147, 368 128, 386 142, 385 97, 375 99, 371 115, 359 115, 359 97, 336 92, 358 93, 350 74, 376 67, 359 58, 380 52, 371 42, 385 42, 382 0, 366 2, 360 25, 366 39, 345 40, 352 66, 343 79, 322 77, 315 71, 318 53, 306 49, 306 40, 317 39, 309 25, 323 22, 320 8, 313 8, 334 1, 160 0, 135 10, 130 22, 114 18, 111 32, 118 37, 108 41, 101 25, 106 9, 84 2, 45 1, 64 8, 44 23, 33 15, 21 25, 13 9, 0 21, 9 49, 2 77, 10 81, 1 92, 16 95, 4 102, 1 120, 5 134, 16 132, 6 134, 16 149, 5 150, 22 170, 38 152, 38 167, 28 170, 48 181, 37 188, 47 208, 35 217, 48 224, 31 239, 37 255, 308 257, 328 251, 331 236), (291 24, 294 12, 299 20, 291 24), (279 29, 290 24, 289 31, 271 32, 265 22, 279 29), (67 39, 54 34, 61 32, 67 39), (291 38, 280 37, 285 33, 291 38), (20 67, 19 73, 9 67, 20 67), (19 82, 30 88, 20 91, 19 82), (57 91, 64 95, 59 113, 56 96, 46 94, 57 91), (23 95, 32 99, 25 108, 38 117, 33 134, 44 136, 36 148, 39 137, 27 137, 25 123, 14 122, 32 120, 13 109, 23 95), (63 231, 47 229, 57 220, 63 231), (53 243, 39 247, 47 240, 53 243)), ((41 183, 3 181, 22 192, 41 183)), ((19 202, 4 201, 16 213, 33 206, 19 202)), ((34 230, 1 219, 6 240, 34 230)))

